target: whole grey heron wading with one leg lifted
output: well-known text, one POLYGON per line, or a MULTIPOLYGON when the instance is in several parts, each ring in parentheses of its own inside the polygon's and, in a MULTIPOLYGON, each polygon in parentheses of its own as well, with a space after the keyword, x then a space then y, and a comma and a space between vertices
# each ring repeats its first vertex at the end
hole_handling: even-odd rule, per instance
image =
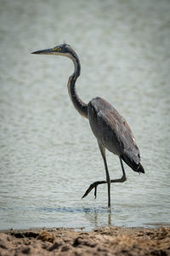
POLYGON ((105 180, 92 183, 82 195, 82 198, 87 196, 92 189, 94 189, 94 197, 96 198, 98 185, 107 183, 108 209, 111 210, 111 183, 124 183, 127 180, 123 162, 130 166, 134 172, 144 173, 144 167, 140 163, 139 148, 133 132, 126 119, 105 99, 97 96, 87 104, 77 95, 76 82, 81 73, 81 64, 76 51, 72 49, 71 45, 59 44, 54 48, 34 51, 32 54, 61 55, 73 61, 74 72, 69 77, 67 84, 69 96, 78 113, 89 121, 94 137, 96 137, 99 144, 106 175, 105 180), (121 178, 111 179, 105 157, 105 148, 119 157, 122 166, 121 178))

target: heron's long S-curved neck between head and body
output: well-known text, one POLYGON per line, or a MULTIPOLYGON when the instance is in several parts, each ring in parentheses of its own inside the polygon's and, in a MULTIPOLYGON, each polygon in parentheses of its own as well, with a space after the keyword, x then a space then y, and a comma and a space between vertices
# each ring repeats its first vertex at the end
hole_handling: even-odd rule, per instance
POLYGON ((77 95, 77 90, 76 90, 76 81, 81 72, 80 61, 76 53, 74 54, 71 53, 70 55, 68 55, 68 57, 73 61, 74 67, 75 67, 74 73, 69 78, 68 84, 67 84, 69 95, 71 97, 71 102, 73 103, 77 111, 83 117, 88 119, 88 105, 82 102, 82 100, 77 95))

